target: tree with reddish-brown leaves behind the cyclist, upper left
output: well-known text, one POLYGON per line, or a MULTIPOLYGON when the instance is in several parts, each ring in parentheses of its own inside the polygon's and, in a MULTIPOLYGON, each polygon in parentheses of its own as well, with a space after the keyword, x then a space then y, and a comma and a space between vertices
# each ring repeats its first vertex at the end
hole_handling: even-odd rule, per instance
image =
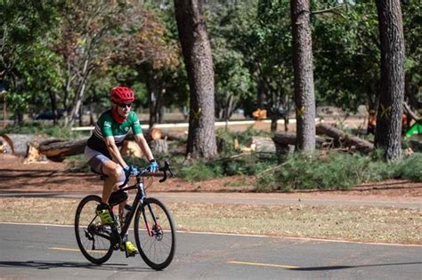
MULTIPOLYGON (((113 31, 126 21, 130 4, 117 1, 69 1, 61 11, 61 39, 54 50, 61 56, 63 104, 68 108, 66 124, 72 125, 85 100, 93 71, 106 68, 116 44, 113 31), (68 100, 71 104, 68 105, 68 100)), ((81 114, 79 114, 81 116, 81 114)))

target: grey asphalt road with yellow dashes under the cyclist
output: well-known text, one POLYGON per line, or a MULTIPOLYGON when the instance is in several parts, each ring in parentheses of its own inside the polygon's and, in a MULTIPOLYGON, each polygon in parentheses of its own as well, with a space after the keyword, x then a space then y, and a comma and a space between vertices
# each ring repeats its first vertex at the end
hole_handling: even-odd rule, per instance
POLYGON ((422 247, 178 233, 164 271, 115 253, 102 266, 77 250, 71 227, 0 223, 0 278, 420 279, 422 247))

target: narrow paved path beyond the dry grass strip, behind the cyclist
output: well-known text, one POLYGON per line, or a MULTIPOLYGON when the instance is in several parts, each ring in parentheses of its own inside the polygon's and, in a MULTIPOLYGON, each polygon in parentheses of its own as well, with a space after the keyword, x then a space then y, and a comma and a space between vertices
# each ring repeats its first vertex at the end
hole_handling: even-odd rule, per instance
MULTIPOLYGON (((0 197, 67 197, 82 198, 86 193, 63 192, 15 192, 0 191, 0 197)), ((156 196, 166 203, 220 203, 220 204, 304 204, 304 205, 344 205, 344 206, 375 206, 422 209, 420 197, 388 197, 388 196, 353 196, 328 193, 194 193, 194 192, 150 192, 149 196, 156 196)))

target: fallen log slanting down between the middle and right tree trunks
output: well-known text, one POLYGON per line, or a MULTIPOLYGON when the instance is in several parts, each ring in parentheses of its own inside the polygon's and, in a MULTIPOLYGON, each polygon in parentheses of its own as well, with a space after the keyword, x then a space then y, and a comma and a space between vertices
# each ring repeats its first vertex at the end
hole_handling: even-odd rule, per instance
POLYGON ((322 134, 333 138, 342 147, 354 148, 361 152, 369 152, 374 148, 374 144, 372 144, 371 142, 363 140, 357 136, 353 136, 342 132, 336 127, 331 126, 329 124, 317 124, 316 132, 318 135, 322 134))

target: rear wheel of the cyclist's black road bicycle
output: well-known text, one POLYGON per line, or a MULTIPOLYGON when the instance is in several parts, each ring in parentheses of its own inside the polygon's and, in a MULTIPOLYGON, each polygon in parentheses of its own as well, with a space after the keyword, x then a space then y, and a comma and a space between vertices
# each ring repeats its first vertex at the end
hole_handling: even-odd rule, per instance
POLYGON ((77 245, 85 258, 95 264, 109 260, 113 253, 111 228, 103 226, 95 213, 100 203, 100 196, 86 196, 77 206, 75 215, 77 245))

